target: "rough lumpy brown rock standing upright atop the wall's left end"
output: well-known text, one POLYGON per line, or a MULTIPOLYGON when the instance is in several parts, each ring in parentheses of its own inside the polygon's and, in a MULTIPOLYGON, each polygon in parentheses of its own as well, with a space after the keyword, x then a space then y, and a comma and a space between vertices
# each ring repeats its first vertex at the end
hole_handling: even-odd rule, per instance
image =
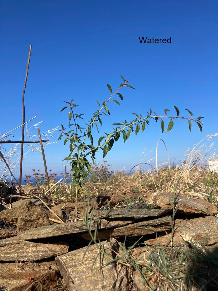
POLYGON ((19 208, 17 232, 47 225, 50 225, 48 211, 41 206, 34 205, 32 201, 24 201, 19 208))

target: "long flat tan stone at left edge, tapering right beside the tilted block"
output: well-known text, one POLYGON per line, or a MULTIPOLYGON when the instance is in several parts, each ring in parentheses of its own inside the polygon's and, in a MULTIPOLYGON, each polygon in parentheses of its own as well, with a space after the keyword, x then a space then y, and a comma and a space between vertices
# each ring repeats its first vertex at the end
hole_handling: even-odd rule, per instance
POLYGON ((26 240, 0 240, 0 261, 33 261, 56 257, 68 252, 66 242, 40 243, 26 240))

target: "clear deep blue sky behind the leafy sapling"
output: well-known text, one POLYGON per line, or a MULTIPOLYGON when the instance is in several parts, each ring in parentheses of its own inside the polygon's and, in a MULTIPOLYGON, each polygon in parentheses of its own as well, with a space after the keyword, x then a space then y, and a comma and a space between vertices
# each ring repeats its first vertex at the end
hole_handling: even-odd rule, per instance
MULTIPOLYGON (((133 112, 146 115, 150 108, 157 114, 165 108, 174 113, 176 105, 182 115, 188 116, 188 108, 194 117, 205 116, 202 133, 195 124, 189 133, 187 121, 177 120, 172 131, 161 134, 160 124, 151 121, 144 133, 133 134, 125 144, 120 139, 106 157, 116 169, 130 169, 142 158, 143 148, 149 152, 159 138, 167 144, 170 158, 179 162, 188 147, 217 131, 217 1, 1 0, 0 5, 1 133, 22 123, 30 45, 26 120, 38 115, 35 122, 44 121, 41 132, 67 124, 67 112, 60 113, 64 100, 74 98, 78 112, 90 119, 97 109, 95 99, 107 99, 106 84, 116 89, 120 75, 130 78, 137 90, 122 89, 121 107, 110 104, 111 116, 103 119, 101 133, 110 132, 114 122, 132 119, 133 112), (140 44, 139 36, 171 36, 172 43, 140 44)), ((37 134, 36 129, 31 134, 37 134)), ((20 139, 21 130, 14 135, 20 139)), ((61 171, 68 146, 58 141, 45 154, 48 167, 61 171)), ((102 152, 97 161, 102 161, 102 152)), ((164 161, 160 145, 159 162, 164 161)), ((24 174, 32 168, 43 172, 40 154, 28 154, 23 168, 24 174)))

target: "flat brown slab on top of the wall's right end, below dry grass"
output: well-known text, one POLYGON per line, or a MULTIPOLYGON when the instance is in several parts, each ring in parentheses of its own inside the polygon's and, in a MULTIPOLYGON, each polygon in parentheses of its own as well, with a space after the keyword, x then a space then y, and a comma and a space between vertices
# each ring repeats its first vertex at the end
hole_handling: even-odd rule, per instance
MULTIPOLYGON (((153 204, 157 207, 173 207, 173 193, 158 192, 152 197, 153 204)), ((187 195, 176 195, 178 203, 178 212, 186 214, 206 214, 213 215, 217 213, 217 207, 203 199, 193 199, 187 195)))

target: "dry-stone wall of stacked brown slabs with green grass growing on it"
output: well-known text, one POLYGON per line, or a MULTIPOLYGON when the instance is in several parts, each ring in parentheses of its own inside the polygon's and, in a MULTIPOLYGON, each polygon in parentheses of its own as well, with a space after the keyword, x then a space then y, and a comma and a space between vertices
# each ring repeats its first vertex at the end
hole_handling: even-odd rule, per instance
POLYGON ((0 205, 0 290, 218 286, 218 212, 204 199, 157 191, 97 196, 79 203, 75 222, 75 203, 46 207, 5 185, 1 195, 10 199, 0 205))

